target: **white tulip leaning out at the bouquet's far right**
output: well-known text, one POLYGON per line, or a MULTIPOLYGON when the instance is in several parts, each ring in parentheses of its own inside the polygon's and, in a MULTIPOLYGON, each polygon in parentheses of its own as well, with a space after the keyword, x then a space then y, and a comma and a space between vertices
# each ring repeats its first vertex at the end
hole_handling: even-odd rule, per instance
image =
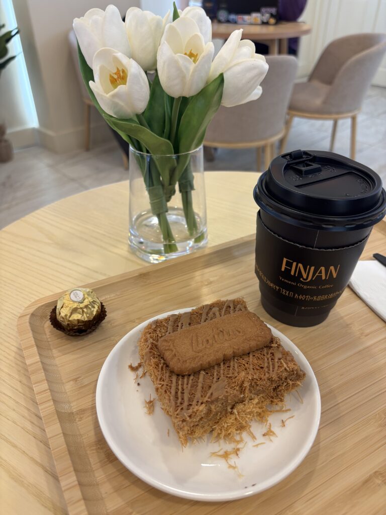
POLYGON ((232 32, 210 68, 208 82, 224 74, 221 104, 225 107, 257 100, 262 92, 260 82, 268 72, 265 57, 255 54, 255 45, 241 40, 241 34, 242 29, 232 32))

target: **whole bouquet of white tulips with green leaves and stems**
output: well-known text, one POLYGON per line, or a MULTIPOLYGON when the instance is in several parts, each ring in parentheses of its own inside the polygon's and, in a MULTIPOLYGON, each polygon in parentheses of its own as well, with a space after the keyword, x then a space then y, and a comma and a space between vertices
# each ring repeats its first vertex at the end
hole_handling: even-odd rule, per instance
POLYGON ((237 106, 261 95, 268 64, 255 45, 235 30, 215 59, 212 25, 200 7, 164 18, 131 7, 125 22, 116 7, 91 9, 74 20, 83 80, 96 108, 138 152, 162 155, 162 166, 141 164, 152 213, 165 253, 176 244, 167 219, 179 185, 189 234, 196 218, 188 152, 202 145, 222 104, 237 106), (185 157, 176 159, 177 155, 185 157))

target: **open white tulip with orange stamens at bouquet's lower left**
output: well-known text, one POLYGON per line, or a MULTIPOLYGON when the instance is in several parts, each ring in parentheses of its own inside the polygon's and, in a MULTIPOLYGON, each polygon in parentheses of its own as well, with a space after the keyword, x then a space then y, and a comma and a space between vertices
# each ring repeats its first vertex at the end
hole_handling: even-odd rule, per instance
POLYGON ((116 118, 132 118, 145 111, 150 89, 146 73, 134 59, 113 48, 101 48, 93 60, 90 81, 100 107, 116 118))

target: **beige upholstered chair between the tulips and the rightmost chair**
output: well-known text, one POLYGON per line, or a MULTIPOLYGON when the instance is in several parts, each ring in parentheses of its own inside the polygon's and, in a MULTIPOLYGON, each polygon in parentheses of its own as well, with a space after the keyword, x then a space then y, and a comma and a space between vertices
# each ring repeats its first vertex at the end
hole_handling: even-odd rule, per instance
POLYGON ((285 117, 296 76, 297 62, 291 56, 268 56, 269 71, 262 81, 258 100, 236 107, 220 107, 206 131, 206 147, 257 148, 260 170, 261 148, 265 166, 273 158, 274 143, 284 134, 285 117))

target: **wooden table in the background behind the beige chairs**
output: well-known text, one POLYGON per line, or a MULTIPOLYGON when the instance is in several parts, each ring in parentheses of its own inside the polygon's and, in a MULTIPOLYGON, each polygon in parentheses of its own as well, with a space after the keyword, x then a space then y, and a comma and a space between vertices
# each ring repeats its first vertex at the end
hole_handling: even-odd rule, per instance
POLYGON ((302 22, 279 22, 276 25, 239 25, 236 23, 212 23, 212 37, 228 39, 234 30, 243 29, 242 39, 250 39, 268 45, 269 54, 288 54, 288 39, 306 36, 311 25, 302 22))

